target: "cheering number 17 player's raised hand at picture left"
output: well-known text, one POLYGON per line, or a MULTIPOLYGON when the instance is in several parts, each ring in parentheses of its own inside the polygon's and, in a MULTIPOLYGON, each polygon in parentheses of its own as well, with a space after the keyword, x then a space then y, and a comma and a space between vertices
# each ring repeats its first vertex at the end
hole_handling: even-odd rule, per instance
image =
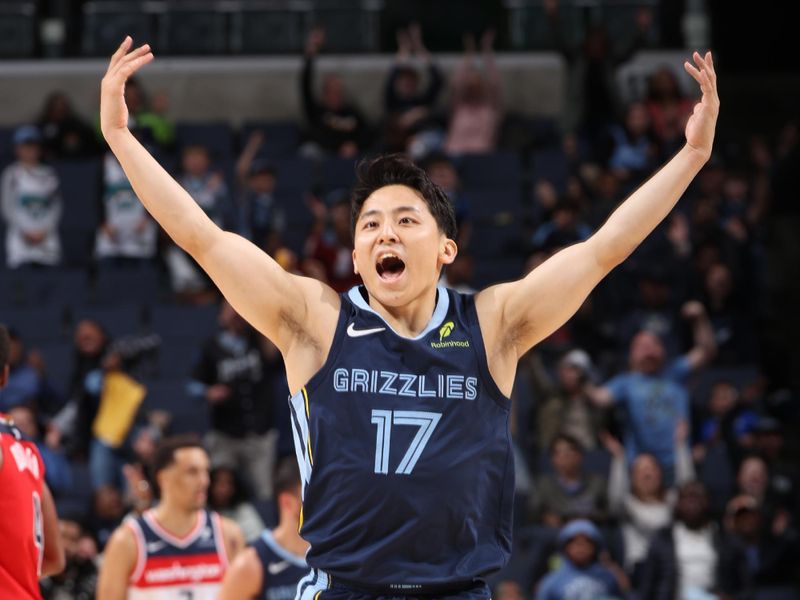
POLYGON ((127 36, 108 63, 100 86, 100 129, 106 140, 114 132, 128 127, 128 107, 125 104, 125 82, 136 71, 153 60, 149 44, 131 50, 133 40, 127 36))

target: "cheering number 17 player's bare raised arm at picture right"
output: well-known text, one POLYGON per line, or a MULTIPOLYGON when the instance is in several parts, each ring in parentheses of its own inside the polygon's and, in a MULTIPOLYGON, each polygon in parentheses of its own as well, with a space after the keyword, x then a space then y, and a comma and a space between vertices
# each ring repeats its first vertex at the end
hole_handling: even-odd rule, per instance
POLYGON ((513 379, 519 357, 575 314, 600 280, 655 229, 711 156, 719 113, 716 75, 710 52, 695 52, 694 61, 696 67, 684 66, 703 95, 686 125, 684 147, 588 240, 555 254, 524 279, 478 296, 490 368, 499 383, 513 379))

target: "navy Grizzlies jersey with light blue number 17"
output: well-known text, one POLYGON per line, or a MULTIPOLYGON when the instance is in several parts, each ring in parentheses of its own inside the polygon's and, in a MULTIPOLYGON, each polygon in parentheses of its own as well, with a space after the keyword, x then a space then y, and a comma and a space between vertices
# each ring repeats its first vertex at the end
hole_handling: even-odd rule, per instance
POLYGON ((376 593, 468 586, 508 560, 514 493, 474 297, 439 287, 405 338, 365 294, 342 295, 328 359, 290 399, 306 560, 376 593))

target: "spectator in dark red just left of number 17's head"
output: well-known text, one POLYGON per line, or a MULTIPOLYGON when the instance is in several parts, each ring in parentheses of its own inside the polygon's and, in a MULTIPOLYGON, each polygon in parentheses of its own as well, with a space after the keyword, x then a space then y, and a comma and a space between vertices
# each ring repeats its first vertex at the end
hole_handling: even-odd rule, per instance
POLYGON ((359 284, 361 277, 353 269, 350 197, 339 193, 335 198, 330 206, 318 198, 309 198, 314 225, 305 243, 303 270, 312 275, 309 262, 316 263, 328 285, 337 292, 346 292, 359 284))

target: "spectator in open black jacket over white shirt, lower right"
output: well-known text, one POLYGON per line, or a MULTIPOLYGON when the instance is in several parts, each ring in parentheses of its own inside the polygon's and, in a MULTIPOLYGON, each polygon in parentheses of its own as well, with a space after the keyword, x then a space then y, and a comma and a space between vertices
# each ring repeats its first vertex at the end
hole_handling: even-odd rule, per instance
POLYGON ((750 578, 744 549, 718 529, 708 510, 702 483, 678 492, 675 524, 656 533, 638 587, 648 600, 747 597, 750 578))

